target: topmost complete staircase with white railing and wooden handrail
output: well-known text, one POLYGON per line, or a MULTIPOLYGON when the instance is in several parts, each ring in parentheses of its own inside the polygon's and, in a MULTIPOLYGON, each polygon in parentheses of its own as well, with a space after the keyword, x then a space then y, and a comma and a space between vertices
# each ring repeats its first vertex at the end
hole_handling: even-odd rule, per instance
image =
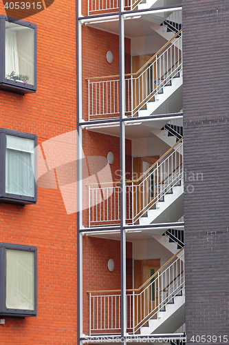
MULTIPOLYGON (((119 117, 120 80, 87 78, 89 121, 119 117), (98 97, 99 95, 99 97, 98 97)), ((125 75, 126 117, 178 112, 182 92, 182 30, 135 73, 125 75)))

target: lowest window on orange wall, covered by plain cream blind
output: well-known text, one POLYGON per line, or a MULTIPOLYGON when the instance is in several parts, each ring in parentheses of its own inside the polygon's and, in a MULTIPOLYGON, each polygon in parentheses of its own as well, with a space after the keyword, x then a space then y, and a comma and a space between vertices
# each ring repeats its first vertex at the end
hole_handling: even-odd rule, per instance
POLYGON ((36 316, 37 249, 0 243, 0 317, 36 316))

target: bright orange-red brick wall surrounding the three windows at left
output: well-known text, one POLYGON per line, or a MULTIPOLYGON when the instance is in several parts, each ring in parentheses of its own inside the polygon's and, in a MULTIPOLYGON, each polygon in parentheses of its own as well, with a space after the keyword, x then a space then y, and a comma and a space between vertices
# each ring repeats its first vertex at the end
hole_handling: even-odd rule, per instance
MULTIPOLYGON (((76 129, 75 1, 54 1, 27 20, 38 26, 38 90, 0 91, 0 126, 34 133, 38 142, 76 129)), ((1 13, 5 14, 3 3, 1 13)), ((6 319, 0 343, 76 343, 76 213, 59 189, 38 189, 30 206, 0 204, 1 242, 38 248, 38 315, 6 319)))

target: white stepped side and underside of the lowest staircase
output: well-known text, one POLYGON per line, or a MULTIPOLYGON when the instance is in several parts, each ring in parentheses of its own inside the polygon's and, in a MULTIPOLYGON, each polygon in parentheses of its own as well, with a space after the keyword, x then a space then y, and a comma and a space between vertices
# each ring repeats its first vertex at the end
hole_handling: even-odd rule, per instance
POLYGON ((141 335, 150 335, 152 333, 174 333, 177 328, 185 323, 185 296, 176 295, 173 301, 165 304, 164 311, 160 311, 160 317, 149 319, 148 326, 140 328, 141 335))

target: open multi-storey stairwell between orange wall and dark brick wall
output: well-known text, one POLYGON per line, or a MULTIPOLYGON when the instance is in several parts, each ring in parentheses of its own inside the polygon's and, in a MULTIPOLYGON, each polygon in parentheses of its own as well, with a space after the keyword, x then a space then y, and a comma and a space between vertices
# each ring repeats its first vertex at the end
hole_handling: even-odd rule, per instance
POLYGON ((182 344, 182 3, 78 6, 79 340, 182 344))

